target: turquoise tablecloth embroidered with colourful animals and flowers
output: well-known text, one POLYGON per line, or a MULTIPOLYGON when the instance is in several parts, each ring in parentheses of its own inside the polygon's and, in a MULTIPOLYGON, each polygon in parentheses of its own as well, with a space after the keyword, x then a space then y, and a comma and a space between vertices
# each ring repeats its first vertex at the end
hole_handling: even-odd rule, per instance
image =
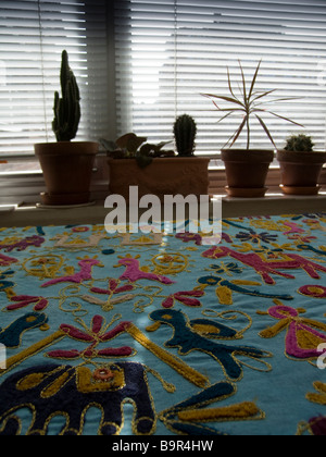
POLYGON ((325 434, 325 232, 0 230, 0 434, 325 434))

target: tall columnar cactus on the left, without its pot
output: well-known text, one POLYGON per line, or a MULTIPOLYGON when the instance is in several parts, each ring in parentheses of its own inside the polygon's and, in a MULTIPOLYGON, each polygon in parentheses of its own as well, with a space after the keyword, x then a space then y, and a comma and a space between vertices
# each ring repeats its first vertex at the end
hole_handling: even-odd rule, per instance
POLYGON ((80 121, 80 92, 76 77, 70 67, 66 51, 62 52, 60 79, 62 98, 55 91, 52 129, 58 141, 71 141, 76 137, 78 132, 80 121))

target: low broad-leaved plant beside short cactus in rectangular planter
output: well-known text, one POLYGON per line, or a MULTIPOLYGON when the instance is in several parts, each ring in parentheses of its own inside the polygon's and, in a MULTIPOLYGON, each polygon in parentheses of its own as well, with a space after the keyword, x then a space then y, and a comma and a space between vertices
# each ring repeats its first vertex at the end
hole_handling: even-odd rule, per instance
POLYGON ((126 134, 116 141, 109 141, 101 138, 100 144, 106 150, 108 156, 113 159, 136 159, 140 168, 148 166, 154 158, 173 157, 174 151, 163 150, 171 141, 163 141, 159 145, 147 143, 146 137, 139 137, 134 133, 126 134))

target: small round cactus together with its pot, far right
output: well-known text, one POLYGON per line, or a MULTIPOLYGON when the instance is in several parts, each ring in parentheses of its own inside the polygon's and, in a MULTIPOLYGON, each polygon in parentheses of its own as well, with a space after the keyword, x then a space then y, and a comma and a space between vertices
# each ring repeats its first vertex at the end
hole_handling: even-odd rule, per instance
POLYGON ((299 134, 287 138, 285 148, 277 151, 284 194, 318 194, 318 178, 326 163, 326 152, 314 151, 314 146, 310 136, 299 134))

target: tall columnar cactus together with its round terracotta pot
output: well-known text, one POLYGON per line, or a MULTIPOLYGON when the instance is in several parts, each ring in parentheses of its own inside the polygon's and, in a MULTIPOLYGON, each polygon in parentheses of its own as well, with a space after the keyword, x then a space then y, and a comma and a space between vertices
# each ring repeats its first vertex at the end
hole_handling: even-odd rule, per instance
POLYGON ((55 91, 52 123, 57 143, 35 145, 48 190, 41 195, 42 203, 84 205, 89 202, 90 181, 99 144, 72 141, 79 127, 80 95, 65 50, 62 52, 60 79, 62 98, 55 91))

